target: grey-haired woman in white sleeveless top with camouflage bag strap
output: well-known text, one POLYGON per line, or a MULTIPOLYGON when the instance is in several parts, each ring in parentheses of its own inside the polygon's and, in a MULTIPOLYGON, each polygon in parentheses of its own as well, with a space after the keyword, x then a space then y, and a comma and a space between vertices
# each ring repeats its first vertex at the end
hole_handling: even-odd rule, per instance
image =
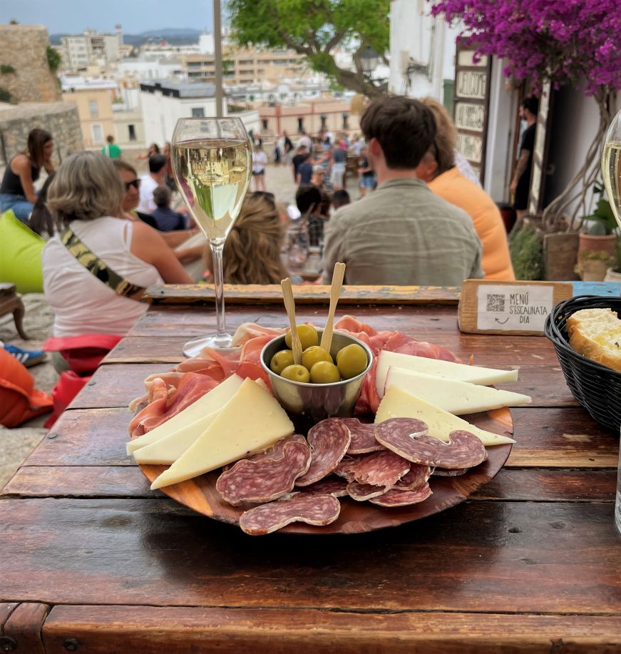
POLYGON ((147 309, 146 287, 192 282, 160 233, 122 217, 124 194, 112 161, 94 152, 64 160, 49 187, 48 209, 65 228, 42 255, 56 337, 125 334, 147 309))

